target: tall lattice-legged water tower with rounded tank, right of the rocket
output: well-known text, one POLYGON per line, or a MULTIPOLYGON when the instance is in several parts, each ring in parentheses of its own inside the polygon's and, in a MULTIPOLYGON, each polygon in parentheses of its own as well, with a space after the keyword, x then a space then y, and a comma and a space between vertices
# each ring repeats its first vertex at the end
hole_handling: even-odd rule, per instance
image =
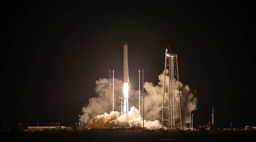
POLYGON ((162 128, 182 130, 177 53, 169 45, 165 52, 162 128))

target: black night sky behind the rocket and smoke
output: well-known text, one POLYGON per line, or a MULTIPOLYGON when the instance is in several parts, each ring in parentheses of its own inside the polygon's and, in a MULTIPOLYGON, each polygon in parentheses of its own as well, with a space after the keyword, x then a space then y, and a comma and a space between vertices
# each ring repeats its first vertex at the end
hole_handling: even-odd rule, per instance
POLYGON ((167 44, 178 50, 179 77, 197 90, 194 124, 242 128, 256 123, 255 39, 249 2, 12 1, 1 4, 3 122, 73 126, 108 69, 138 89, 158 83, 167 44), (252 40, 253 39, 253 40, 252 40), (135 85, 136 84, 136 85, 135 85))

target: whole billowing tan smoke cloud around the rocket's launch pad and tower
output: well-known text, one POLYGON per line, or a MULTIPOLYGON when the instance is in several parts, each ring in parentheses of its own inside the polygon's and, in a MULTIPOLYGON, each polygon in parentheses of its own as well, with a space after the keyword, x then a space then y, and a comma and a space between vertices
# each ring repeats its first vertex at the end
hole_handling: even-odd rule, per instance
MULTIPOLYGON (((149 120, 149 123, 152 123, 149 126, 158 125, 158 122, 161 121, 162 117, 162 103, 163 103, 163 86, 164 86, 164 72, 162 72, 159 76, 158 85, 154 85, 150 82, 145 82, 144 84, 144 115, 145 120, 149 120), (157 121, 155 121, 157 120, 157 121), (155 121, 155 122, 154 122, 155 121)), ((113 80, 111 79, 111 86, 113 80)), ((121 99, 119 97, 123 97, 123 81, 115 78, 114 80, 114 110, 121 113, 121 99)), ((169 86, 169 85, 167 85, 169 86)), ((165 86, 166 87, 166 86, 165 86)), ((174 84, 174 90, 177 91, 178 84, 174 84)), ((166 88, 168 90, 168 88, 166 88)), ((127 118, 119 118, 118 112, 111 112, 110 114, 105 113, 109 112, 109 79, 100 78, 96 81, 96 97, 90 98, 89 103, 86 104, 82 108, 82 115, 80 116, 80 122, 89 123, 87 127, 94 128, 105 128, 107 126, 119 127, 122 126, 141 126, 140 120, 137 120, 137 113, 135 110, 139 107, 138 99, 139 99, 139 91, 135 91, 130 88, 129 90, 129 109, 132 106, 136 108, 131 109, 131 113, 137 115, 136 117, 132 117, 131 119, 127 118), (103 114, 103 115, 102 115, 103 114), (96 116, 96 117, 95 117, 96 116), (93 119, 92 119, 93 118, 93 119), (104 119, 103 119, 104 118, 104 119), (133 120, 136 118, 136 121, 133 120), (140 125, 139 125, 140 124, 140 125)), ((111 89, 111 111, 112 111, 112 89, 111 89)), ((195 97, 196 91, 191 91, 188 85, 183 85, 180 82, 180 100, 181 100, 181 113, 182 113, 182 123, 189 123, 189 107, 191 107, 191 111, 196 110, 197 98, 195 97)), ((140 93, 142 94, 142 92, 140 93)), ((178 96, 175 96, 177 99, 178 96)), ((141 102, 142 106, 142 102, 141 102)), ((142 108, 141 111, 142 112, 142 108)), ((132 115, 132 114, 131 114, 132 115)), ((129 115, 128 115, 129 116, 129 115)), ((185 126, 185 125, 183 125, 185 126)), ((147 127, 147 125, 145 125, 147 127)))

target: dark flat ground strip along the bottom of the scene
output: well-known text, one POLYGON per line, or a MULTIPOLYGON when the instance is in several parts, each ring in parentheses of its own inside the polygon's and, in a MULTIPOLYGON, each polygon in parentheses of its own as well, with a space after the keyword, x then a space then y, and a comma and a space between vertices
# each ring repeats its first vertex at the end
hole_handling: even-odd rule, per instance
POLYGON ((256 131, 230 131, 230 132, 206 132, 206 133, 151 133, 151 132, 118 132, 118 133, 94 133, 94 132, 1 132, 1 141, 249 141, 254 139, 256 131))

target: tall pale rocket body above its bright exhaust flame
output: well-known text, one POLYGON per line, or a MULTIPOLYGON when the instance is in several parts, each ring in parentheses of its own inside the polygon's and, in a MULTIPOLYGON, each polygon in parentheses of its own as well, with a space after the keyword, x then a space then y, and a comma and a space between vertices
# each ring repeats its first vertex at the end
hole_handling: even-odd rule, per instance
POLYGON ((124 83, 128 83, 129 75, 128 75, 128 45, 124 43, 124 83))

